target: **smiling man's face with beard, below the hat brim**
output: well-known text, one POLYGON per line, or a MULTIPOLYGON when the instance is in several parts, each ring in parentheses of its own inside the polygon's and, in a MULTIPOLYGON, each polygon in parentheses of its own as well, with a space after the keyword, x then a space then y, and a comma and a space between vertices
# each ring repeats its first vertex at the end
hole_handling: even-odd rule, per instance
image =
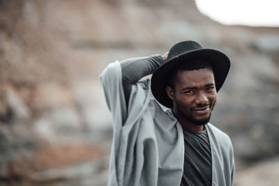
POLYGON ((216 102, 216 86, 211 68, 178 71, 173 90, 173 110, 194 125, 209 122, 216 102))

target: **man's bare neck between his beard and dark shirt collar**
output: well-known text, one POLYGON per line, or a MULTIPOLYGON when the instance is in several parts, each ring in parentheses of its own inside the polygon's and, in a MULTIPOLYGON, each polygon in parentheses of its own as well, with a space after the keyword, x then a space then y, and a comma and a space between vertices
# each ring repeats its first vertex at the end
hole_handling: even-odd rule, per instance
POLYGON ((179 123, 181 124, 181 126, 184 129, 190 130, 190 131, 203 131, 204 130, 204 125, 195 125, 195 124, 191 123, 184 116, 179 114, 179 111, 177 111, 176 109, 172 108, 172 113, 174 114, 174 116, 176 117, 176 119, 179 121, 179 123))

